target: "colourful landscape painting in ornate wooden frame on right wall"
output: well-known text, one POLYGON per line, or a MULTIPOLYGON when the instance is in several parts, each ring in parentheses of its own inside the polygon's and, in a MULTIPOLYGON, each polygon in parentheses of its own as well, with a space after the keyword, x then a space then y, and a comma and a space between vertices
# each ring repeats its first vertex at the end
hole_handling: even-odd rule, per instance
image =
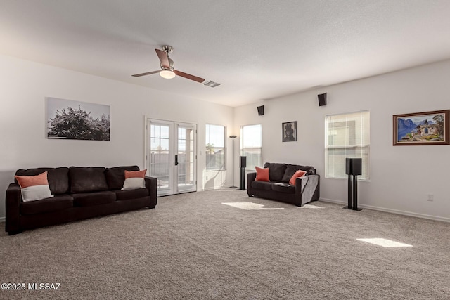
POLYGON ((394 115, 394 146, 450 145, 450 110, 394 115))

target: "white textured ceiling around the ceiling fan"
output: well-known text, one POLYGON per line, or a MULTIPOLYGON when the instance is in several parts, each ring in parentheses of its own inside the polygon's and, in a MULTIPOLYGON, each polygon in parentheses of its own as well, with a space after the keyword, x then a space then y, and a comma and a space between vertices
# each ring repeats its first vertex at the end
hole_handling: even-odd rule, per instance
POLYGON ((449 0, 0 0, 0 53, 224 105, 450 58, 449 0), (219 82, 131 74, 182 72, 219 82))

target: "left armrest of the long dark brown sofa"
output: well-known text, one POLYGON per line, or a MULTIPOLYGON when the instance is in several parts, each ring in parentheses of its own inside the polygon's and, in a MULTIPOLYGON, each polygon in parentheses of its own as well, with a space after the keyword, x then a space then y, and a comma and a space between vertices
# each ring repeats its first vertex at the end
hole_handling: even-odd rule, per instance
POLYGON ((22 202, 22 190, 17 183, 11 183, 6 189, 5 199, 5 231, 9 235, 22 232, 20 229, 20 202, 22 202))

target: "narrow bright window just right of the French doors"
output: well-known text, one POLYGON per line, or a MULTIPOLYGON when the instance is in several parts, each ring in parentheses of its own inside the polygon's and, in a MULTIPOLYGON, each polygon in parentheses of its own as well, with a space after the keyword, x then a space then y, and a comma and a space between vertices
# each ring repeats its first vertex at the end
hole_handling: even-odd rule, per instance
POLYGON ((225 169, 225 127, 206 124, 206 169, 225 169))

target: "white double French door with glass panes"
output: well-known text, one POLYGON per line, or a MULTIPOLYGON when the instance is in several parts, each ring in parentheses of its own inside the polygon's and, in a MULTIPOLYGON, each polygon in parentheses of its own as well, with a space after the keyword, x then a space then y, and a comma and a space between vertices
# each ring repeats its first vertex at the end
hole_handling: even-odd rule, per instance
POLYGON ((146 165, 158 196, 197 190, 195 124, 148 119, 146 165))

